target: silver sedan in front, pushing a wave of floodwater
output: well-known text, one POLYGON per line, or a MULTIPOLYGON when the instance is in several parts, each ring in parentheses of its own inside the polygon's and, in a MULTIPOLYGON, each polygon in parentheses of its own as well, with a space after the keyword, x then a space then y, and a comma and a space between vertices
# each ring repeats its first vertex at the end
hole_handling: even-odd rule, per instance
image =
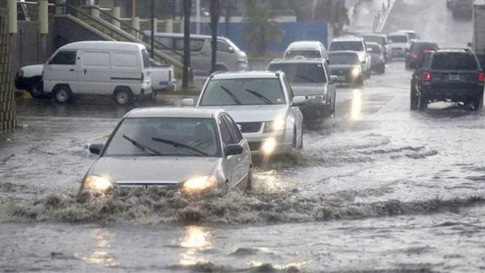
POLYGON ((82 181, 106 194, 121 187, 174 187, 207 192, 251 186, 251 154, 232 118, 220 109, 144 108, 126 114, 82 181))

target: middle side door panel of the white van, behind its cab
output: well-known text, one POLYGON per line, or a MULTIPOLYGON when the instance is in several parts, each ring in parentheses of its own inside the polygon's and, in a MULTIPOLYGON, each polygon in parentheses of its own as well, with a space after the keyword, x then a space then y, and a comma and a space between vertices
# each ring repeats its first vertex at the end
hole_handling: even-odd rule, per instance
POLYGON ((108 51, 81 52, 77 71, 81 94, 107 95, 111 88, 111 54, 108 51))

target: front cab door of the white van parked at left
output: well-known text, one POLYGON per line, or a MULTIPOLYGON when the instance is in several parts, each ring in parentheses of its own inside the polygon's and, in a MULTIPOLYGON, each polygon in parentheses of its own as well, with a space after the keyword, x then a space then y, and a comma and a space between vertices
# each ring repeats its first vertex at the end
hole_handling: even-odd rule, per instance
POLYGON ((76 72, 76 50, 61 50, 44 65, 44 86, 46 92, 52 92, 57 84, 68 84, 71 91, 78 91, 76 72))

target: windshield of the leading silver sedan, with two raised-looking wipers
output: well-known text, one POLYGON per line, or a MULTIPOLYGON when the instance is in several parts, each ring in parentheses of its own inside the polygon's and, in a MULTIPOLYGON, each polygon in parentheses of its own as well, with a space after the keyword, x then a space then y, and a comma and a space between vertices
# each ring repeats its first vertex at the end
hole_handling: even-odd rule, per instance
POLYGON ((125 118, 105 156, 218 157, 212 118, 125 118))

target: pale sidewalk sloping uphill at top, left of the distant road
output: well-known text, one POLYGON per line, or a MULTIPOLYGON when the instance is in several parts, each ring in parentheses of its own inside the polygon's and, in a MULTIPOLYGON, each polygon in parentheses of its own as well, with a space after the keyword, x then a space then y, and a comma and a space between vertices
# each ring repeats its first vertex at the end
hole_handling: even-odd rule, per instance
POLYGON ((361 0, 355 6, 351 24, 346 31, 350 33, 380 32, 387 20, 395 0, 361 0))

